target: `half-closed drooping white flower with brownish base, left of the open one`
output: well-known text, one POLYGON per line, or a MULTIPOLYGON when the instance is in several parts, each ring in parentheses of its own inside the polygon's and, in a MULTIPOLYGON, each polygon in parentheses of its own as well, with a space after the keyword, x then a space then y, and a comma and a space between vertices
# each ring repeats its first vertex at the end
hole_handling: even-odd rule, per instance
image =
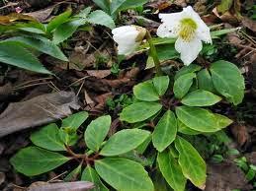
POLYGON ((119 54, 132 53, 143 40, 146 30, 137 26, 123 26, 112 30, 113 39, 119 44, 119 54))

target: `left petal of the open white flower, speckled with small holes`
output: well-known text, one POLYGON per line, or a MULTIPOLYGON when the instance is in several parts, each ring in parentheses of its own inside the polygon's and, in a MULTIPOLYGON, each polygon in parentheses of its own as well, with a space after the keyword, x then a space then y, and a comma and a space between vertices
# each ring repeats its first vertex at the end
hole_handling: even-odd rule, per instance
POLYGON ((159 14, 162 24, 157 29, 159 37, 177 37, 180 30, 181 13, 159 14))

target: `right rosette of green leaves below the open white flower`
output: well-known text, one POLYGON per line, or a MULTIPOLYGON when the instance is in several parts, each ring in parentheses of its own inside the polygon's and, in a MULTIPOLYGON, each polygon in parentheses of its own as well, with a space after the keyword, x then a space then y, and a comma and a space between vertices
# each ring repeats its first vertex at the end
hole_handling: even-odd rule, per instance
POLYGON ((187 179, 204 189, 206 162, 184 135, 210 134, 231 124, 211 107, 222 99, 239 104, 244 88, 239 69, 230 62, 216 61, 205 69, 192 64, 171 80, 160 76, 134 86, 137 101, 125 107, 120 118, 134 126, 153 127, 157 167, 172 189, 185 190, 187 179))

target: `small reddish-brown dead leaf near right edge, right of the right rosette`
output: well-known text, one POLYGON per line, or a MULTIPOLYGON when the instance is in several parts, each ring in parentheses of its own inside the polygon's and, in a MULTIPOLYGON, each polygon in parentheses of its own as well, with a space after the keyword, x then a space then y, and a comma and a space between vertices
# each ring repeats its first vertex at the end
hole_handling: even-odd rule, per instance
POLYGON ((245 125, 233 124, 231 132, 240 147, 246 147, 250 142, 250 136, 245 125))

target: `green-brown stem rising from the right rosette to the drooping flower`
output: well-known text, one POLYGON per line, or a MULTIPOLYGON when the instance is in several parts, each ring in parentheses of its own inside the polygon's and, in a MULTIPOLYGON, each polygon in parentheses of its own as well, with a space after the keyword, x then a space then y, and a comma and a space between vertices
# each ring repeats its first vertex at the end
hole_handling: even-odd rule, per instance
POLYGON ((154 61, 156 76, 161 76, 162 71, 161 71, 160 61, 159 61, 159 58, 158 58, 158 55, 156 52, 155 45, 152 42, 152 36, 151 36, 150 32, 146 31, 145 37, 149 44, 150 55, 152 56, 153 61, 154 61))

